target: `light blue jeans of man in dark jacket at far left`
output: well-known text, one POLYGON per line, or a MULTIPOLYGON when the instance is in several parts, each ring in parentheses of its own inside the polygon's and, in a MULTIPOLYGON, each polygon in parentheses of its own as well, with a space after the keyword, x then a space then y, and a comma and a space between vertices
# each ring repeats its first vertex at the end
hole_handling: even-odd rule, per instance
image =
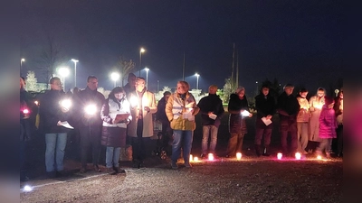
POLYGON ((46 171, 63 171, 64 149, 67 144, 67 134, 45 134, 45 144, 46 171))

